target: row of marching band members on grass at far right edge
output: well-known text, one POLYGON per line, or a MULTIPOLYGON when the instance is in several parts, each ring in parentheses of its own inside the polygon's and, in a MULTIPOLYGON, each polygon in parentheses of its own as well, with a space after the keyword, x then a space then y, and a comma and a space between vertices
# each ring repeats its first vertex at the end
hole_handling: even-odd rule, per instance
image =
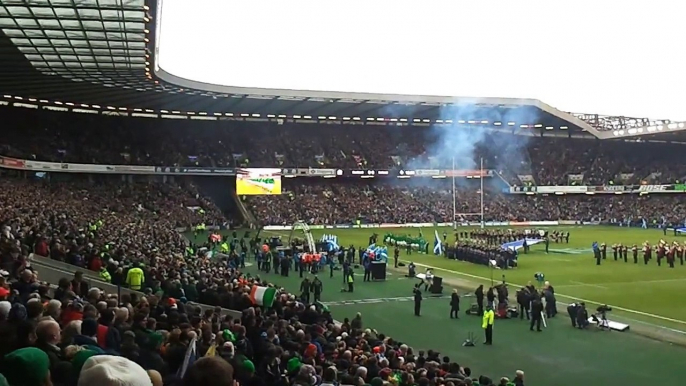
MULTIPOLYGON (((651 246, 647 241, 643 243, 642 248, 639 250, 638 246, 634 244, 631 246, 631 255, 634 260, 634 264, 638 264, 638 254, 639 251, 643 254, 643 263, 648 265, 648 262, 653 258, 653 251, 655 252, 656 261, 658 266, 662 266, 662 260, 666 260, 670 268, 674 268, 676 259, 679 259, 679 264, 684 265, 684 257, 686 255, 686 242, 684 245, 679 244, 679 242, 674 241, 670 245, 664 240, 660 240, 655 247, 651 246)), ((607 245, 605 243, 600 244, 597 248, 594 246, 593 252, 596 259, 596 265, 600 265, 601 260, 607 259, 607 245)), ((629 246, 622 244, 612 245, 612 256, 615 261, 624 260, 625 263, 629 260, 629 246)))

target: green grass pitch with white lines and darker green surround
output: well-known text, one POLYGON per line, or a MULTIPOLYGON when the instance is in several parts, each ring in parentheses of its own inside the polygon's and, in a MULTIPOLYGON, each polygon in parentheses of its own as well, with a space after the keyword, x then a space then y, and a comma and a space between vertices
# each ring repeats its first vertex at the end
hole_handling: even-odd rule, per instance
MULTIPOLYGON (((485 266, 447 260, 432 254, 404 254, 401 259, 415 264, 435 267, 436 274, 444 278, 444 285, 460 288, 462 293, 472 292, 478 283, 490 283, 491 274, 496 282, 505 280, 512 287, 533 280, 535 272, 545 273, 546 279, 556 287, 559 302, 568 303, 582 299, 587 303, 606 303, 614 308, 610 319, 630 324, 634 331, 602 332, 572 329, 564 306, 558 306, 561 314, 548 323, 542 333, 532 333, 528 325, 519 320, 499 320, 495 327, 495 346, 464 348, 461 343, 469 332, 483 340, 480 320, 462 314, 460 320, 449 319, 448 300, 426 299, 422 305, 422 317, 412 315, 411 288, 414 281, 403 278, 405 271, 389 270, 385 282, 363 283, 356 281, 355 292, 341 293, 342 278, 336 271, 333 278, 328 272, 320 274, 324 281, 323 301, 332 309, 334 317, 342 320, 362 312, 365 326, 376 328, 396 339, 421 349, 439 350, 443 355, 468 365, 475 373, 488 372, 491 376, 509 375, 522 369, 529 384, 558 385, 639 385, 654 382, 661 377, 680 382, 683 366, 676 358, 686 354, 679 345, 661 340, 648 339, 643 335, 665 338, 681 343, 686 339, 686 265, 668 268, 658 267, 653 260, 649 265, 614 261, 611 250, 601 266, 595 265, 590 252, 593 241, 641 244, 655 243, 660 239, 683 243, 686 237, 664 236, 658 230, 625 229, 615 227, 557 227, 569 230, 569 244, 550 244, 550 253, 543 245, 532 247, 529 254, 521 254, 519 267, 514 270, 491 270, 485 266), (665 378, 666 377, 666 378, 665 378)), ((444 229, 438 228, 439 235, 444 229)), ((445 229, 452 237, 450 229, 445 229)), ((377 232, 418 234, 417 229, 346 229, 313 231, 315 239, 322 234, 335 234, 341 245, 366 246, 369 235, 377 232)), ((228 232, 227 232, 228 233, 228 232)), ((263 231, 266 235, 288 238, 289 231, 263 231)), ((433 242, 433 228, 423 229, 424 237, 433 242)), ((301 236, 296 231, 294 236, 301 236)), ((639 259, 641 260, 641 259, 639 259)), ((256 273, 255 267, 248 268, 256 273)), ((297 291, 300 278, 291 274, 288 278, 264 274, 269 281, 297 291)), ((445 294, 450 289, 446 288, 445 294)), ((511 289, 514 293, 514 288, 511 289)), ((462 308, 471 303, 463 299, 462 308)), ((595 308, 591 304, 589 308, 595 308)))

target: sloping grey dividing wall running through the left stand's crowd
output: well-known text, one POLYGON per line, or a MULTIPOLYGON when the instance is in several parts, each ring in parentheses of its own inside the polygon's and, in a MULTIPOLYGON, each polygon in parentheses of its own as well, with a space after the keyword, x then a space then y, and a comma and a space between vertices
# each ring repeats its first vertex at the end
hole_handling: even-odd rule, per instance
MULTIPOLYGON (((29 256, 31 262, 31 267, 38 272, 38 278, 41 281, 47 282, 51 285, 53 289, 57 288, 57 283, 62 278, 71 279, 76 271, 83 272, 83 279, 88 283, 90 287, 99 288, 109 294, 136 294, 136 296, 145 296, 142 292, 134 291, 124 287, 118 287, 110 283, 104 282, 100 277, 92 271, 87 269, 82 269, 75 265, 67 264, 61 261, 52 260, 47 257, 38 256, 36 254, 31 254, 29 256)), ((202 312, 206 310, 214 310, 214 306, 207 304, 200 304, 194 302, 188 302, 191 306, 199 306, 202 312)), ((241 317, 241 312, 235 310, 229 310, 222 308, 222 313, 229 314, 234 319, 241 317)))

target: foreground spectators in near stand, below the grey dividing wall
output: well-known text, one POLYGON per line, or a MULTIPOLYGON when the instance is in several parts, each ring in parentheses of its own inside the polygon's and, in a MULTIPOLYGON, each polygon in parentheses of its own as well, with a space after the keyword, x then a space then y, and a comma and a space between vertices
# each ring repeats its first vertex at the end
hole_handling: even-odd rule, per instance
MULTIPOLYGON (((242 279, 238 272, 231 272, 242 279)), ((66 279, 65 279, 66 280, 66 279)), ((494 385, 449 357, 415 352, 366 328, 358 314, 335 323, 326 309, 279 290, 272 307, 241 280, 228 289, 241 317, 166 296, 103 293, 77 280, 54 292, 30 270, 0 286, 0 384, 494 385)), ((513 383, 523 385, 517 371, 513 383)))

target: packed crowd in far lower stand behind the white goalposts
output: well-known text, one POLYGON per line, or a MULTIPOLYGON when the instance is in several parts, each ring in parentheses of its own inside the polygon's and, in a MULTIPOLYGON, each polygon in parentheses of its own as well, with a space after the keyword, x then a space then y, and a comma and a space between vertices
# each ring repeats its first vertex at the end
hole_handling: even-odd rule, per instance
MULTIPOLYGON (((246 199, 253 213, 272 225, 302 220, 309 224, 433 223, 452 222, 453 194, 447 183, 431 180, 418 186, 329 181, 284 184, 280 196, 246 199)), ((458 186, 455 194, 458 221, 480 221, 478 186, 458 186)), ((512 195, 484 189, 486 221, 576 220, 607 223, 683 224, 686 206, 680 195, 512 195)))

